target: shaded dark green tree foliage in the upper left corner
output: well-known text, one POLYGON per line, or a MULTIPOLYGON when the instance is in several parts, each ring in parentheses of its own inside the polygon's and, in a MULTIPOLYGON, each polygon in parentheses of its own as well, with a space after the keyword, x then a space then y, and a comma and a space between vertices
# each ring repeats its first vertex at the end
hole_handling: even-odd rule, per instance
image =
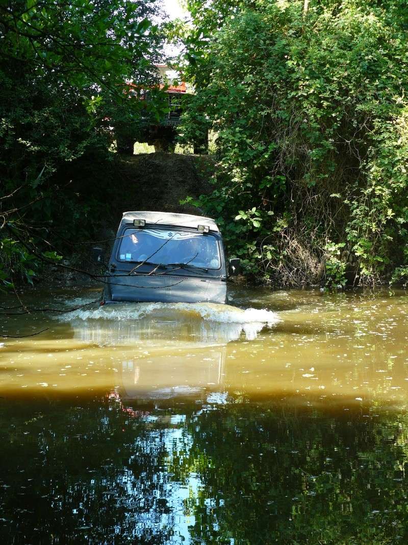
MULTIPOLYGON (((96 171, 109 162, 114 129, 132 126, 137 133, 162 114, 159 90, 149 101, 139 96, 142 85, 157 82, 163 43, 153 23, 157 6, 156 0, 1 4, 0 225, 18 224, 26 243, 25 250, 13 248, 41 252, 50 240, 61 244, 60 235, 75 240, 81 228, 89 239, 111 180, 96 175, 98 187, 84 187, 72 165, 85 157, 96 171), (76 178, 66 179, 67 171, 76 178)), ((0 233, 2 258, 13 253, 20 263, 14 272, 30 280, 23 253, 11 252, 8 238, 0 233)))

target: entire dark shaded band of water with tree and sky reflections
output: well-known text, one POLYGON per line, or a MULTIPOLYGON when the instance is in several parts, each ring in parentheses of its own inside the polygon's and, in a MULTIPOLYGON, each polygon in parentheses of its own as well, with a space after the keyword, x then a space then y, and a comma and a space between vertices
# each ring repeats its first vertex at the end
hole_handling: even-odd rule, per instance
POLYGON ((2 541, 405 543, 406 415, 310 402, 2 399, 2 541))

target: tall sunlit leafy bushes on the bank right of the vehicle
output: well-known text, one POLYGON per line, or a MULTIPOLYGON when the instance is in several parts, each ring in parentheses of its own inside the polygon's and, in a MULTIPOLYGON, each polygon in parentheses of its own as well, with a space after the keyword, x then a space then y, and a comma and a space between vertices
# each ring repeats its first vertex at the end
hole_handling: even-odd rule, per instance
POLYGON ((196 94, 180 134, 193 140, 203 118, 217 132, 217 189, 199 205, 222 218, 231 252, 297 285, 343 285, 353 267, 360 283, 378 282, 406 265, 403 3, 188 5, 196 94))

